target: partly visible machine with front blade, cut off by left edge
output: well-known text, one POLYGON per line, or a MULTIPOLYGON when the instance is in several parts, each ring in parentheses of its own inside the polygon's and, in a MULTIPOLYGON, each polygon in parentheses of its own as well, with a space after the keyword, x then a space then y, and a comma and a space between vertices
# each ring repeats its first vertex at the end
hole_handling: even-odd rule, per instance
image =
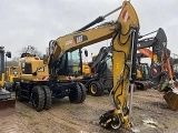
POLYGON ((11 58, 11 52, 4 52, 4 47, 0 47, 0 114, 4 114, 7 109, 14 109, 16 100, 11 96, 11 93, 4 89, 4 59, 11 58))

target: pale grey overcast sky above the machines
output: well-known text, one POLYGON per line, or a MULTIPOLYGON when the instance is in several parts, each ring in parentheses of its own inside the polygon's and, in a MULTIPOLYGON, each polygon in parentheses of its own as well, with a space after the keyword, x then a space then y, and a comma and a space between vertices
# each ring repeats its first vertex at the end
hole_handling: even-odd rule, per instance
MULTIPOLYGON (((12 57, 27 45, 44 53, 50 40, 80 29, 121 3, 122 0, 1 0, 0 45, 11 51, 12 57)), ((131 3, 139 17, 141 34, 162 28, 168 48, 178 53, 178 0, 131 0, 131 3)), ((118 16, 119 11, 106 21, 118 16)), ((97 53, 108 43, 87 49, 97 53)))

